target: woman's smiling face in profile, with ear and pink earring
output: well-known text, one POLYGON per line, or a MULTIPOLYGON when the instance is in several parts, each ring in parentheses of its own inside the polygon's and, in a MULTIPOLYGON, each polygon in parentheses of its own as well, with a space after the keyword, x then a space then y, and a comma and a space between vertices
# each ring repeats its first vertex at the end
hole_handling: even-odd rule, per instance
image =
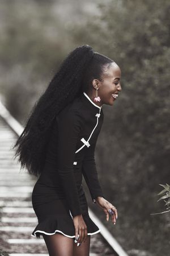
POLYGON ((118 93, 122 90, 120 84, 121 69, 115 62, 111 63, 109 68, 107 67, 108 65, 104 68, 103 75, 101 76, 103 81, 97 79, 92 81, 94 88, 99 88, 97 90, 97 96, 100 96, 101 101, 96 102, 99 106, 103 104, 113 105, 113 102, 118 98, 118 93))

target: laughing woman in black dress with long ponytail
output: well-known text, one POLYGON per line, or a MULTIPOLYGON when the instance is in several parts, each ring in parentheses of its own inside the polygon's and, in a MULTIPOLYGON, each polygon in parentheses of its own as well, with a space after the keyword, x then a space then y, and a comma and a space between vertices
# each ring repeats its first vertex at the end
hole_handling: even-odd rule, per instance
POLYGON ((76 47, 35 104, 14 146, 22 167, 39 177, 32 192, 39 224, 31 236, 43 236, 50 256, 89 255, 90 237, 100 232, 88 215, 82 176, 92 201, 116 224, 117 210, 98 180, 95 146, 102 105, 113 105, 120 77, 113 60, 88 45, 76 47))

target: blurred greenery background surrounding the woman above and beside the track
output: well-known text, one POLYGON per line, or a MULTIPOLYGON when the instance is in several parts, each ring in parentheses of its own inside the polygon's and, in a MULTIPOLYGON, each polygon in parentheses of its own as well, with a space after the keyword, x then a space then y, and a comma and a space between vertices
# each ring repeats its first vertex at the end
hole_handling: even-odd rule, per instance
POLYGON ((0 93, 23 126, 75 47, 120 66, 122 92, 103 106, 95 155, 116 225, 88 201, 130 255, 169 255, 170 213, 151 215, 166 209, 159 184, 170 184, 169 13, 169 0, 1 0, 0 93))

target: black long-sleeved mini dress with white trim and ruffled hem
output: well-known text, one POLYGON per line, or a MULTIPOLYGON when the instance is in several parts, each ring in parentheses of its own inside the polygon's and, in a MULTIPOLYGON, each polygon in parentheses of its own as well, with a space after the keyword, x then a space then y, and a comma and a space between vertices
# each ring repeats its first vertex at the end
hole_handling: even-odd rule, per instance
POLYGON ((57 232, 75 237, 73 217, 82 214, 87 234, 100 232, 88 214, 82 176, 92 201, 103 196, 95 165, 95 146, 103 110, 83 92, 57 115, 50 134, 45 166, 32 191, 38 223, 31 236, 57 232))

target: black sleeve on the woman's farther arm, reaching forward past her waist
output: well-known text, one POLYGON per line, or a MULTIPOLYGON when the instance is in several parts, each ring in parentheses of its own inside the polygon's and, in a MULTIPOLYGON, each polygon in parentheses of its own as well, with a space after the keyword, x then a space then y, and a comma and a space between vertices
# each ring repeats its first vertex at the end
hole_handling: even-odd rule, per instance
MULTIPOLYGON (((100 182, 97 175, 96 163, 95 163, 95 147, 96 142, 87 148, 86 155, 82 162, 82 172, 86 184, 91 194, 92 201, 95 203, 97 196, 103 196, 103 191, 100 186, 100 182)), ((104 197, 105 198, 105 197, 104 197)))

